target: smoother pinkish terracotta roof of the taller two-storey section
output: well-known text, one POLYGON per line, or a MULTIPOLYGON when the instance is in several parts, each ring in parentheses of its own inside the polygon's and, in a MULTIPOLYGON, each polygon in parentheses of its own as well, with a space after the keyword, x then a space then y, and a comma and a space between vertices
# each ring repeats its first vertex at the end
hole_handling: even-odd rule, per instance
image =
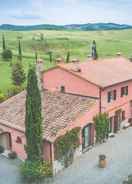
POLYGON ((132 62, 124 57, 58 66, 102 88, 132 80, 132 62))

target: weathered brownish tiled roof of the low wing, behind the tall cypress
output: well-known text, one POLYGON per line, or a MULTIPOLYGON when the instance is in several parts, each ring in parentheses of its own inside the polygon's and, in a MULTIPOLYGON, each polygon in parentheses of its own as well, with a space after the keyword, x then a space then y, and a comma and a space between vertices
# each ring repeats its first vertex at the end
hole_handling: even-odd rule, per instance
MULTIPOLYGON (((89 110, 96 100, 60 92, 44 91, 44 138, 52 140, 81 113, 89 110)), ((0 123, 24 131, 26 92, 0 104, 0 123)))

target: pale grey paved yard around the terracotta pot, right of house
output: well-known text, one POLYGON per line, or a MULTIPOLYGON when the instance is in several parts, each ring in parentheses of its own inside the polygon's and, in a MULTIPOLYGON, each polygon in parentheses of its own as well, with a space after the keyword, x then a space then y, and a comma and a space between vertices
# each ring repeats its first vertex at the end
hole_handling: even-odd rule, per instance
POLYGON ((122 184, 129 174, 132 174, 132 128, 83 154, 53 184, 122 184), (107 155, 106 169, 97 166, 99 154, 107 155))

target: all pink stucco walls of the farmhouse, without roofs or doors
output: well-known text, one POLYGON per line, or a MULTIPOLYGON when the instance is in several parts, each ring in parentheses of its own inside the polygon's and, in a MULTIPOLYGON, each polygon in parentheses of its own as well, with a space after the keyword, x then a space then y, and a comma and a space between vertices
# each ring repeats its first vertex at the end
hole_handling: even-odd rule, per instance
MULTIPOLYGON (((53 70, 49 70, 43 74, 43 86, 45 89, 59 91, 61 86, 65 86, 66 92, 80 94, 84 96, 92 96, 98 97, 100 94, 100 89, 96 85, 83 80, 63 69, 55 68, 53 70)), ((101 110, 102 112, 108 112, 109 116, 114 116, 115 111, 122 109, 126 112, 126 118, 132 116, 130 109, 130 100, 132 99, 132 81, 124 82, 121 84, 117 84, 112 87, 105 88, 101 91, 101 110), (120 97, 121 87, 128 86, 128 96, 120 97), (107 102, 107 94, 111 90, 117 91, 117 99, 116 101, 107 102)), ((76 120, 73 122, 69 122, 69 126, 65 129, 61 130, 57 137, 64 135, 66 131, 69 131, 75 127, 80 127, 80 143, 82 143, 82 129, 84 126, 88 125, 89 123, 93 123, 93 117, 99 113, 99 100, 96 101, 95 105, 88 108, 88 110, 77 116, 76 120)), ((94 125, 93 125, 94 126, 94 125)), ((4 130, 4 132, 8 132, 11 134, 11 142, 12 142, 12 151, 16 151, 18 156, 22 159, 26 158, 26 153, 24 150, 24 145, 26 143, 24 133, 17 131, 16 129, 9 128, 0 124, 0 128, 4 130), (16 142, 17 136, 22 139, 22 144, 18 144, 16 142)), ((93 132, 93 136, 94 136, 93 132)), ((57 138, 56 137, 56 138, 57 138)), ((56 139, 55 138, 55 139, 56 139)), ((52 143, 54 143, 52 140, 52 143)), ((94 137, 93 137, 94 139, 94 137)), ((46 160, 54 160, 54 147, 53 144, 50 144, 47 141, 44 141, 44 159, 46 160)))

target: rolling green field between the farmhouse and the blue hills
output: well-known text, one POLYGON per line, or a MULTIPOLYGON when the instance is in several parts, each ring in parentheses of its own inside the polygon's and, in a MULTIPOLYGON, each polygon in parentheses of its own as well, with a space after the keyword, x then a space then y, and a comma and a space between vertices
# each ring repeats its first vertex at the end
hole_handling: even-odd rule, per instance
MULTIPOLYGON (((0 38, 2 37, 0 31, 0 38)), ((13 61, 16 60, 18 36, 22 37, 23 65, 27 72, 29 64, 35 61, 35 50, 39 57, 44 59, 45 69, 54 66, 49 62, 48 51, 53 52, 53 58, 66 58, 67 51, 71 58, 85 60, 90 54, 92 40, 97 42, 99 57, 115 56, 121 52, 124 56, 132 56, 132 30, 121 31, 6 31, 4 32, 6 44, 13 51, 13 61), (40 40, 40 33, 44 40, 40 40)), ((0 39, 0 52, 2 39, 0 39)), ((6 93, 11 87, 11 65, 0 58, 0 91, 6 93)))

